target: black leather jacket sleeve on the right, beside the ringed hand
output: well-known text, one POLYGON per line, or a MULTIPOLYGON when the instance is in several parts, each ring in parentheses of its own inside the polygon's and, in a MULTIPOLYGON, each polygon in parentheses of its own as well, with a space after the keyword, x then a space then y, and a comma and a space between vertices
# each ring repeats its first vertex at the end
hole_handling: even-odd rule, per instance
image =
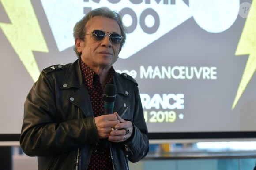
POLYGON ((128 155, 131 162, 137 162, 143 159, 149 151, 148 130, 144 119, 143 108, 139 96, 138 87, 135 88, 135 111, 133 115, 133 133, 128 139, 128 155))

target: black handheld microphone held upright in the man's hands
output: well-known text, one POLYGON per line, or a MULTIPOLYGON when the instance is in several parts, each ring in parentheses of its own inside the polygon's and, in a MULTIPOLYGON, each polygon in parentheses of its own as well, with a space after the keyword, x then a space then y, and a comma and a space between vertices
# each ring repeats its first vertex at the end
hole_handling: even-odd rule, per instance
POLYGON ((104 101, 104 115, 113 114, 116 99, 116 87, 113 84, 106 84, 102 99, 104 101))

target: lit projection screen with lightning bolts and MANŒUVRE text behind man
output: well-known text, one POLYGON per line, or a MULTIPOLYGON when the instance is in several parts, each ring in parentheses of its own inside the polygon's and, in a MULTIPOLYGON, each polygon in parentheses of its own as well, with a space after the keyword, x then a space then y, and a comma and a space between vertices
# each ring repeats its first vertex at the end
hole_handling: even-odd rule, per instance
POLYGON ((119 12, 127 40, 113 65, 139 84, 150 139, 254 138, 256 1, 0 0, 0 141, 17 141, 41 70, 77 59, 73 27, 119 12))

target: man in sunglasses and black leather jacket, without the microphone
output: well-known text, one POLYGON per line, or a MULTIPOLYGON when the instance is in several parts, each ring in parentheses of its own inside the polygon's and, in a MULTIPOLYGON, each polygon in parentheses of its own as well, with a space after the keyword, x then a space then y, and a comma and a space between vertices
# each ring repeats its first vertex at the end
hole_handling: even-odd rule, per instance
POLYGON ((20 145, 38 156, 39 170, 126 170, 149 142, 137 83, 112 67, 126 38, 121 18, 108 8, 90 11, 74 37, 79 59, 44 69, 30 90, 20 145), (103 114, 105 84, 116 88, 113 114, 103 114))

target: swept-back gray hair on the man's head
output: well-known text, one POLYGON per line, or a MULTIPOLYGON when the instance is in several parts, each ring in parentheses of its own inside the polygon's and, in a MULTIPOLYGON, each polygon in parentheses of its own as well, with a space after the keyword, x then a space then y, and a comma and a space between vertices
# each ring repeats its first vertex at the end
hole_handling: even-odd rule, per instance
MULTIPOLYGON (((110 18, 117 22, 117 24, 119 25, 119 27, 121 29, 121 36, 123 37, 123 40, 120 44, 120 49, 119 49, 119 51, 121 51, 121 49, 125 43, 125 40, 126 40, 126 29, 124 28, 120 14, 118 14, 116 11, 111 11, 107 7, 101 7, 101 8, 94 9, 94 10, 88 12, 79 22, 77 22, 74 27, 74 33, 73 33, 74 38, 79 38, 81 40, 84 39, 84 36, 86 33, 85 25, 91 18, 93 18, 95 16, 102 16, 102 17, 110 18)), ((74 46, 74 51, 78 57, 81 56, 81 53, 79 53, 77 51, 75 46, 74 46)))

